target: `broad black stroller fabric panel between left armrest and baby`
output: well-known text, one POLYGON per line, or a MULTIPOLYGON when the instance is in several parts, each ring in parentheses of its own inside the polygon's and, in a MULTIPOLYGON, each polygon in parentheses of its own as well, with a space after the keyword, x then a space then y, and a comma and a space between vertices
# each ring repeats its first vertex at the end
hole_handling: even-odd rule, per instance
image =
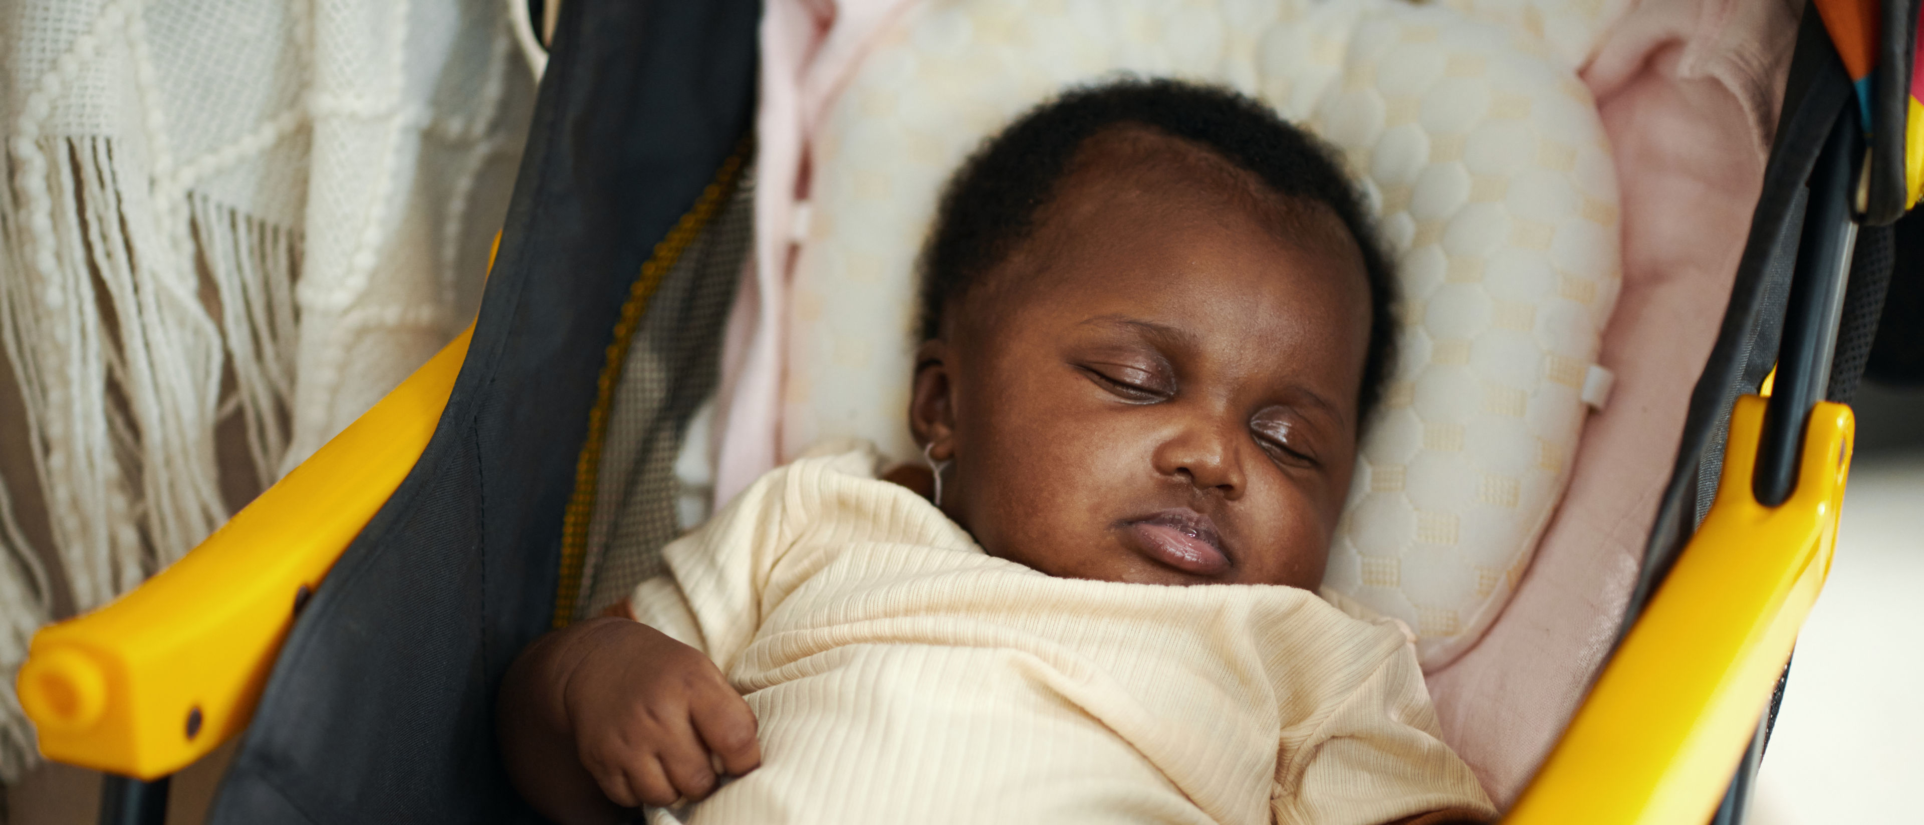
POLYGON ((494 688, 548 629, 629 285, 750 129, 758 15, 564 6, 439 429, 294 625, 210 821, 539 821, 500 769, 494 688))

